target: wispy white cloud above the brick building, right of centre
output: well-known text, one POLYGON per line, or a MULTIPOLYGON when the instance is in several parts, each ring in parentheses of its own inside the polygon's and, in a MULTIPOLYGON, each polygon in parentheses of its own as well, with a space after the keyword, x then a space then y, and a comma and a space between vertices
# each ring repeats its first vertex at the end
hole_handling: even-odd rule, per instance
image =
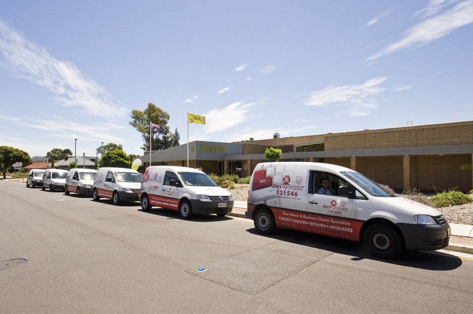
POLYGON ((386 80, 387 77, 380 76, 360 85, 330 86, 312 92, 311 96, 304 100, 304 104, 316 107, 335 104, 340 113, 347 113, 350 116, 365 116, 372 109, 378 107, 376 97, 386 90, 386 88, 380 87, 386 80))

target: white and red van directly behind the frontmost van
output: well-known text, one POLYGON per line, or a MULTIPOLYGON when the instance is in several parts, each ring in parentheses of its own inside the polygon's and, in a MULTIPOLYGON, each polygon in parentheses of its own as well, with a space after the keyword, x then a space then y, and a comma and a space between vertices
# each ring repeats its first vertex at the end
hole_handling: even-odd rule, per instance
POLYGON ((231 193, 200 170, 177 166, 151 166, 141 182, 141 208, 178 210, 184 219, 193 214, 225 216, 233 209, 231 193))

